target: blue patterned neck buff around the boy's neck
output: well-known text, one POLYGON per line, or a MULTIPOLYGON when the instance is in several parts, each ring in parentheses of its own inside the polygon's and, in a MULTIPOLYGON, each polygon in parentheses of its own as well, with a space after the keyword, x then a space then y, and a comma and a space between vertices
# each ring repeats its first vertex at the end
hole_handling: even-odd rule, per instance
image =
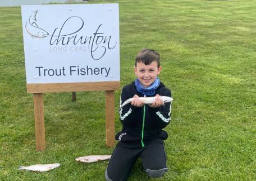
POLYGON ((140 81, 138 78, 135 79, 135 85, 136 85, 136 89, 143 95, 147 95, 147 96, 153 96, 156 89, 159 87, 160 85, 160 80, 158 79, 158 77, 156 78, 156 80, 149 86, 149 87, 143 87, 143 85, 141 85, 140 81))

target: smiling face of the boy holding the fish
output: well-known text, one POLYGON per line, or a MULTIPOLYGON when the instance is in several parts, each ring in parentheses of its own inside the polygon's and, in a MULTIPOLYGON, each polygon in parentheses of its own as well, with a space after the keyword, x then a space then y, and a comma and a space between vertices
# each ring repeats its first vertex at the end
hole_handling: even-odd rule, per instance
POLYGON ((157 68, 157 61, 152 61, 149 65, 139 62, 137 63, 137 66, 134 67, 134 70, 140 83, 144 87, 149 87, 156 80, 157 75, 160 74, 162 66, 157 68))

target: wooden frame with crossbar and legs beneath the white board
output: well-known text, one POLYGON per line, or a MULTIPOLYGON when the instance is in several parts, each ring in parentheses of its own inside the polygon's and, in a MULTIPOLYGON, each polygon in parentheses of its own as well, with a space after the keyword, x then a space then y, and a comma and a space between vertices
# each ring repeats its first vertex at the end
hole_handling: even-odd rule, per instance
POLYGON ((27 92, 34 94, 34 119, 36 151, 45 150, 44 101, 43 93, 80 91, 106 91, 106 145, 115 145, 115 90, 120 88, 120 81, 27 84, 27 92))

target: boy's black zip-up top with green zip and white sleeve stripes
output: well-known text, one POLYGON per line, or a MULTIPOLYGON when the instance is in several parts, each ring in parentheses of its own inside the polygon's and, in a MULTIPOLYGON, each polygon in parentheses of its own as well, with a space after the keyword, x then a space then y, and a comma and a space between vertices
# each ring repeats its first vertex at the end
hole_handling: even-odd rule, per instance
MULTIPOLYGON (((135 87, 135 82, 125 85, 120 97, 120 105, 127 99, 134 97, 144 97, 135 87)), ((160 83, 153 96, 171 97, 171 90, 160 83)), ((152 108, 148 104, 143 107, 134 107, 131 103, 120 108, 120 120, 122 131, 116 134, 117 146, 121 147, 144 147, 151 142, 166 140, 168 135, 162 128, 166 127, 171 120, 171 103, 164 103, 164 106, 152 108)))

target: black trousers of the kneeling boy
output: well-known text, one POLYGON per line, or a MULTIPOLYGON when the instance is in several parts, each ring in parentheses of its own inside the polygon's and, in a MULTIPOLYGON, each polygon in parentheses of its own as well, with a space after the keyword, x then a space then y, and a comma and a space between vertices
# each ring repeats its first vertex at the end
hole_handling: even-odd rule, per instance
POLYGON ((156 170, 166 169, 166 153, 163 142, 153 142, 144 147, 126 148, 116 147, 106 170, 109 180, 127 180, 136 160, 141 158, 143 169, 156 170))

